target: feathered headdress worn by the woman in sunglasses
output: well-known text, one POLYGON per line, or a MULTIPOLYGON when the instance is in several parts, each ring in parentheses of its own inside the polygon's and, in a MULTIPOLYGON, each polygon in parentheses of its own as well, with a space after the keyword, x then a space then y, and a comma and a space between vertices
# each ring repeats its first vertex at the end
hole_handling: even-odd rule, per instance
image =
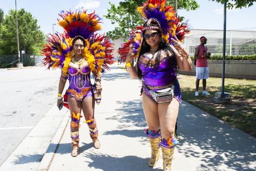
MULTIPOLYGON (((163 39, 169 44, 172 44, 171 38, 174 38, 174 35, 183 41, 185 34, 189 32, 188 26, 185 23, 180 23, 180 19, 176 18, 174 7, 166 6, 166 0, 148 0, 141 7, 138 7, 138 11, 146 19, 146 23, 137 27, 140 28, 140 32, 137 32, 136 36, 130 36, 130 40, 118 50, 122 58, 127 56, 131 44, 134 47, 133 53, 138 57, 143 40, 142 31, 144 30, 160 30, 163 39)), ((136 30, 138 30, 137 28, 136 30)))

